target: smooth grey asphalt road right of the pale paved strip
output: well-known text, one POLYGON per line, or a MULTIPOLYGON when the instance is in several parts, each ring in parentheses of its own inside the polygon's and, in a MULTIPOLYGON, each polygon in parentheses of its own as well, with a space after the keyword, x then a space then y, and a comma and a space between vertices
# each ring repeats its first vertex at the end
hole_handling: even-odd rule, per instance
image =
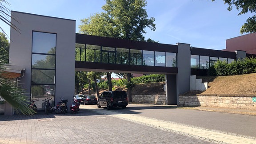
POLYGON ((115 111, 256 137, 256 116, 131 104, 115 111))

